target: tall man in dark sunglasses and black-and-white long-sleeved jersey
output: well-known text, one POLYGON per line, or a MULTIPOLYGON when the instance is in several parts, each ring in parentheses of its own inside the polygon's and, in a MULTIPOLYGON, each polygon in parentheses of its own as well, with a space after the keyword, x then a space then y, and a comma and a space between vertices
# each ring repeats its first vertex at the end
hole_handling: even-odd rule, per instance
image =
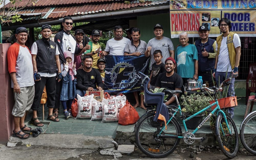
MULTIPOLYGON (((66 63, 66 59, 63 55, 65 51, 70 51, 72 53, 72 61, 74 61, 74 54, 79 54, 83 49, 82 41, 79 44, 79 48, 76 48, 77 42, 74 37, 70 34, 73 27, 73 20, 71 17, 65 17, 62 21, 63 30, 56 34, 54 37, 54 42, 58 46, 60 52, 60 64, 66 63)), ((62 87, 62 80, 56 82, 56 94, 55 94, 55 106, 54 115, 58 117, 58 108, 60 107, 60 91, 62 87)))

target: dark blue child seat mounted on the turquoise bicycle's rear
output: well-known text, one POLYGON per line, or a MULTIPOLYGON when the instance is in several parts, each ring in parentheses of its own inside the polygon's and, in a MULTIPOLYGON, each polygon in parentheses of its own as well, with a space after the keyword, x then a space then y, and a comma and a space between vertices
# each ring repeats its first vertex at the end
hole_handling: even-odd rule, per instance
POLYGON ((169 112, 166 107, 166 105, 163 103, 164 101, 164 93, 151 93, 147 89, 147 85, 149 82, 149 77, 143 74, 142 72, 139 72, 141 75, 142 83, 144 86, 144 102, 146 104, 156 104, 156 114, 153 118, 153 121, 157 121, 159 115, 163 115, 165 117, 166 122, 169 120, 169 112))

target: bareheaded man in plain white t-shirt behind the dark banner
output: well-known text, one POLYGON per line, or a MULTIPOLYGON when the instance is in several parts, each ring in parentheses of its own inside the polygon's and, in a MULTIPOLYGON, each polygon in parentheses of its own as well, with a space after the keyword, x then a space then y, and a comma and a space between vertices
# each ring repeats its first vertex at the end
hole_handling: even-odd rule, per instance
POLYGON ((106 48, 101 52, 101 56, 105 55, 114 55, 114 56, 123 56, 124 48, 128 42, 131 42, 130 39, 123 37, 123 28, 120 25, 114 27, 115 37, 109 39, 106 44, 106 48))

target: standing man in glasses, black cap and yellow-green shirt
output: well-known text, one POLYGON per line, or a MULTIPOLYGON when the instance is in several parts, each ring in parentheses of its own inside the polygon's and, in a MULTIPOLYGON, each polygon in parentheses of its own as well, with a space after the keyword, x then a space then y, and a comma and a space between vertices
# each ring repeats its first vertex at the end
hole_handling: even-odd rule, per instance
POLYGON ((91 41, 88 43, 91 46, 91 49, 86 51, 86 56, 92 56, 93 63, 92 67, 98 69, 97 61, 100 58, 101 48, 100 48, 100 31, 98 29, 94 29, 92 31, 91 41))

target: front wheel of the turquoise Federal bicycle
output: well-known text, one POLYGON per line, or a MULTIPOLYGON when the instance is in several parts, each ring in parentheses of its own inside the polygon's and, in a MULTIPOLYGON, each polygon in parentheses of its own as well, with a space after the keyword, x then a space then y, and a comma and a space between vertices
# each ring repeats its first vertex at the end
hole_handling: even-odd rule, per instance
POLYGON ((222 114, 219 114, 216 119, 216 136, 223 154, 228 158, 234 158, 238 152, 238 132, 234 121, 228 116, 226 118, 228 123, 230 123, 228 126, 231 130, 231 136, 222 114))

